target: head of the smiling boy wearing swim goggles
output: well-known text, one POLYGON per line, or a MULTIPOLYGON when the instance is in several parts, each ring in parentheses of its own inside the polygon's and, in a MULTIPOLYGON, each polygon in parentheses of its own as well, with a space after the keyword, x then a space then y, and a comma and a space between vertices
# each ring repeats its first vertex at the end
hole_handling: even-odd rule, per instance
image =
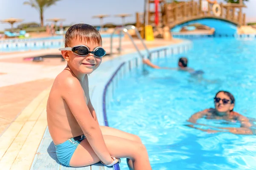
POLYGON ((81 74, 96 70, 106 54, 101 35, 88 24, 71 26, 65 35, 65 48, 60 50, 70 69, 81 74))

